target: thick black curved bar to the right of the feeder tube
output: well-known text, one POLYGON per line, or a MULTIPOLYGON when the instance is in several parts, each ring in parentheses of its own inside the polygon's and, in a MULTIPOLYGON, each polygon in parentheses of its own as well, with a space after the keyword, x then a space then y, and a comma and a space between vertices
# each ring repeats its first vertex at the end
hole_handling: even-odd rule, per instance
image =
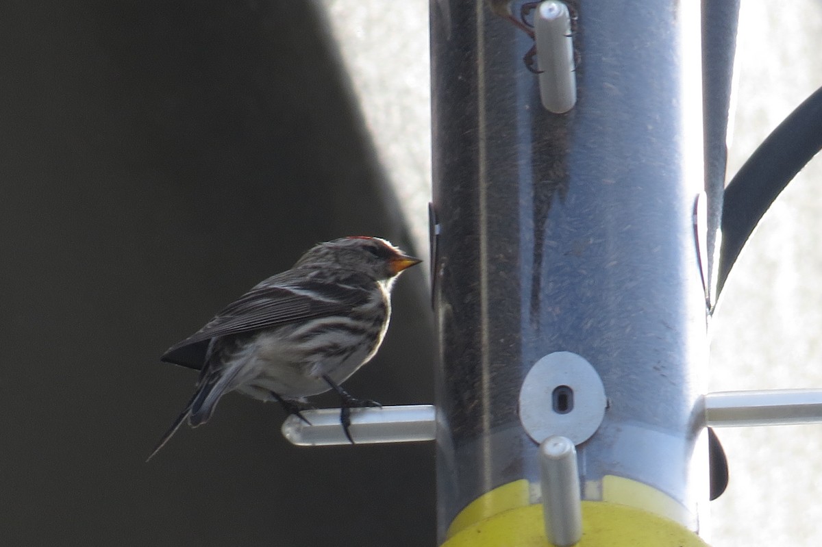
POLYGON ((822 88, 779 124, 724 192, 717 295, 742 246, 776 197, 822 149, 822 88))

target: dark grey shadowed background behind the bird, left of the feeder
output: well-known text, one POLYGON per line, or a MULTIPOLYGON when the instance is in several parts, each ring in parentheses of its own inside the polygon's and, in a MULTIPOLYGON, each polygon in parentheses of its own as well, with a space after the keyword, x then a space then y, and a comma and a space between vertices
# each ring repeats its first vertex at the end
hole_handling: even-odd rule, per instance
MULTIPOLYGON (((317 241, 409 248, 315 5, 4 2, 0 67, 0 544, 433 545, 432 444, 296 448, 230 394, 145 463, 173 342, 317 241)), ((353 394, 432 401, 426 267, 353 394)))

